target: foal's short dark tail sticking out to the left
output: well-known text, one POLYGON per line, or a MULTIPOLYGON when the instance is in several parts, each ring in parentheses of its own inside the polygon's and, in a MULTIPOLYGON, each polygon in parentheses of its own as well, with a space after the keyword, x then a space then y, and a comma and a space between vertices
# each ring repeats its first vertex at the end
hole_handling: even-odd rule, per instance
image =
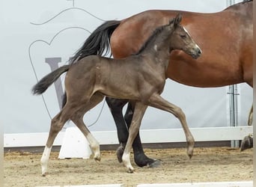
POLYGON ((39 82, 37 82, 37 85, 34 85, 32 88, 32 93, 37 95, 42 94, 61 76, 62 73, 67 72, 69 69, 70 65, 64 65, 63 67, 59 67, 57 70, 54 70, 52 73, 49 73, 39 82))

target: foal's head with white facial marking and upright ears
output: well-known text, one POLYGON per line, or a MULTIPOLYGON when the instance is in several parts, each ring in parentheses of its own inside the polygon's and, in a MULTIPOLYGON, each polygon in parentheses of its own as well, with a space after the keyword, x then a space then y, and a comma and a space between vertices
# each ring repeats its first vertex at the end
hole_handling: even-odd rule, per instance
POLYGON ((192 58, 198 58, 202 51, 192 39, 189 32, 180 25, 181 19, 182 16, 178 14, 174 19, 171 19, 168 24, 168 29, 172 32, 171 36, 168 38, 170 49, 180 49, 191 55, 192 58))

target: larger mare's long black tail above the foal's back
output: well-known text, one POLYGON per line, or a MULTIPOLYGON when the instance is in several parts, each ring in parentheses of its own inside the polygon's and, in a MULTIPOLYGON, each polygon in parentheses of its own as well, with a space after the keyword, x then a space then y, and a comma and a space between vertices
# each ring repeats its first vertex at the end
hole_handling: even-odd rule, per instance
POLYGON ((109 40, 120 25, 121 21, 111 20, 104 22, 96 28, 91 35, 85 40, 83 46, 70 58, 70 63, 85 58, 88 55, 106 55, 110 52, 109 40))

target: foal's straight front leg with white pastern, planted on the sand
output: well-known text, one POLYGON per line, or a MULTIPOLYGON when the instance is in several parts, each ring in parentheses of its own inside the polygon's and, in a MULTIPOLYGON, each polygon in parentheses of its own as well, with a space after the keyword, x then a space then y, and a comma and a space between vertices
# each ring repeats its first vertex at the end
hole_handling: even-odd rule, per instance
POLYGON ((144 116, 144 112, 146 111, 147 105, 144 105, 142 102, 135 102, 134 114, 132 117, 132 123, 129 126, 129 136, 127 140, 127 145, 124 149, 124 154, 122 156, 122 160, 124 165, 127 167, 129 173, 133 173, 134 168, 130 162, 130 152, 132 150, 132 143, 138 135, 139 127, 141 125, 142 117, 144 116))

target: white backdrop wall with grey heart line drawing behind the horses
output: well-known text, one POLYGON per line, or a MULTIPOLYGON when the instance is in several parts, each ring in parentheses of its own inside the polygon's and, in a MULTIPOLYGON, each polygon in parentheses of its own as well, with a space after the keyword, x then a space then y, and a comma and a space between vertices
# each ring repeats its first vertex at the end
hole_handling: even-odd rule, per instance
MULTIPOLYGON (((41 79, 50 72, 46 58, 61 58, 58 66, 63 65, 90 32, 103 23, 101 19, 124 19, 148 9, 216 12, 225 7, 225 0, 1 2, 1 123, 4 133, 49 131, 50 117, 43 99, 31 95, 36 76, 41 79)), ((252 105, 252 88, 243 84, 240 91, 240 124, 246 125, 252 105)), ((43 96, 53 117, 59 111, 54 86, 43 96)), ((189 126, 228 125, 226 88, 191 88, 168 79, 163 96, 183 108, 189 126)), ((102 105, 103 102, 85 115, 85 123, 94 123, 102 105)), ((180 128, 180 123, 171 114, 149 108, 141 128, 180 128)), ((90 129, 115 130, 106 104, 100 119, 90 129)))

